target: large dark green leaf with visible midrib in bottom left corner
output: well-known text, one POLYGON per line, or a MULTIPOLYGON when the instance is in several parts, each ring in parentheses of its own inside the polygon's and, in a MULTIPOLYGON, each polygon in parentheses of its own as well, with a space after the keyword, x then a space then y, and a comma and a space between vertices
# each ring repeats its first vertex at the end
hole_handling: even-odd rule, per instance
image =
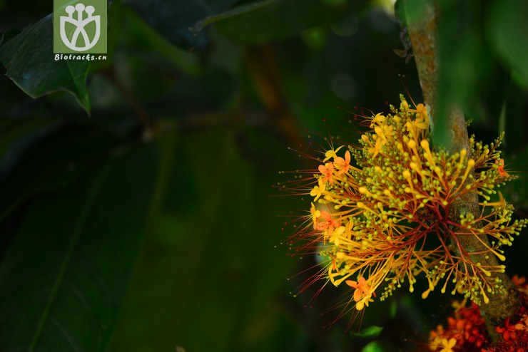
POLYGON ((155 178, 153 147, 136 147, 31 204, 0 266, 3 351, 106 350, 155 178))

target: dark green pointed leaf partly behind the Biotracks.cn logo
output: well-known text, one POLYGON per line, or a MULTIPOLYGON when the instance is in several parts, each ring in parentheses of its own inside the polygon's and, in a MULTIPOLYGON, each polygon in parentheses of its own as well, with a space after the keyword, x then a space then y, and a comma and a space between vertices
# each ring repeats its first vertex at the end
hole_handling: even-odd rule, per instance
POLYGON ((86 74, 90 61, 55 61, 53 38, 52 16, 49 15, 6 41, 0 46, 0 62, 6 66, 6 76, 31 98, 66 90, 88 111, 86 74))

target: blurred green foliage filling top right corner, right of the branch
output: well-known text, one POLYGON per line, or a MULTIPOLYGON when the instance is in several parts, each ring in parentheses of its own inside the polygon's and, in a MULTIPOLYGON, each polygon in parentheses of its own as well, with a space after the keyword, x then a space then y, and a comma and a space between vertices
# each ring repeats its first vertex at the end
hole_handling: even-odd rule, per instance
MULTIPOLYGON (((422 1, 402 1, 398 6, 405 4, 402 12, 407 15, 402 19, 420 21, 422 1)), ((452 105, 460 106, 467 120, 498 129, 507 94, 524 90, 526 97, 528 44, 518 33, 526 27, 528 3, 442 0, 435 4, 442 15, 437 21, 438 119, 433 139, 443 145, 447 143, 443 116, 452 105)))

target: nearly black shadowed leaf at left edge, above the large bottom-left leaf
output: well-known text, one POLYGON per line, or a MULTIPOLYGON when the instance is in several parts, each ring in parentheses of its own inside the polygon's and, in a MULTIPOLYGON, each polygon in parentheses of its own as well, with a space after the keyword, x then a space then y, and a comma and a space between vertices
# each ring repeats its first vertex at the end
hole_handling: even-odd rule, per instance
POLYGON ((82 126, 28 133, 11 145, 0 164, 0 219, 32 195, 68 186, 108 157, 117 143, 115 135, 82 126))

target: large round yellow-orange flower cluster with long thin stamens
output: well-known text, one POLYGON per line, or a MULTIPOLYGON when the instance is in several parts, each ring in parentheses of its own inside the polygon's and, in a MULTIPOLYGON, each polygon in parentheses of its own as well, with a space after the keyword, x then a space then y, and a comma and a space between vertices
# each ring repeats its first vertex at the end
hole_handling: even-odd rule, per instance
POLYGON ((452 294, 487 303, 489 293, 504 291, 494 277, 504 266, 473 262, 474 253, 458 238, 482 242, 489 236, 487 254, 504 260, 499 247, 511 245, 526 224, 512 220, 513 207, 502 197, 491 202, 496 188, 512 178, 497 150, 502 135, 491 145, 471 138, 472 150, 455 154, 433 151, 427 109, 411 109, 400 99, 400 108, 391 105, 390 114, 370 118, 360 146, 325 151, 310 189, 309 226, 299 234, 313 237, 310 248, 322 242, 320 254, 328 258, 323 276, 335 286, 350 286, 349 304, 358 310, 378 289, 385 299, 407 281, 412 292, 420 273, 429 283, 423 298, 437 286, 445 292, 452 282, 452 294), (450 206, 468 192, 477 192, 482 212, 453 222, 450 206))

